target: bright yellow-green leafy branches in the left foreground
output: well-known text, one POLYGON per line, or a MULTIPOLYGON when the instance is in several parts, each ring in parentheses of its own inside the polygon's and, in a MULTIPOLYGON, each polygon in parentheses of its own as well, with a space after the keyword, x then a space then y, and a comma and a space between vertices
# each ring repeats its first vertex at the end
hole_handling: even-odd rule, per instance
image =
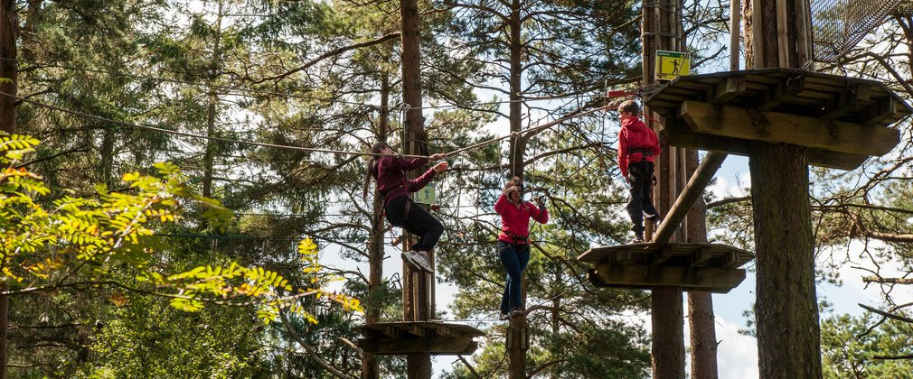
MULTIPOLYGON (((13 164, 23 151, 37 145, 35 138, 0 135, 0 163, 13 164)), ((278 312, 289 309, 315 322, 310 313, 293 300, 304 296, 328 298, 347 311, 361 311, 349 296, 320 288, 294 289, 275 271, 243 267, 232 262, 226 267, 199 266, 169 274, 162 269, 156 252, 144 241, 165 224, 180 220, 184 209, 204 207, 213 225, 224 225, 232 212, 217 201, 194 194, 185 184, 181 169, 171 163, 155 165, 160 177, 128 173, 123 181, 130 192, 112 192, 98 187, 98 199, 65 196, 46 210, 33 196, 49 190, 41 178, 12 166, 0 174, 0 253, 2 271, 17 295, 53 291, 93 283, 113 284, 138 292, 152 292, 172 299, 172 306, 198 312, 205 302, 257 304, 257 316, 274 321, 278 312), (48 254, 49 251, 55 251, 48 254), (117 281, 115 271, 136 271, 136 286, 117 281), (80 282, 70 281, 80 278, 80 282), (82 279, 86 278, 86 279, 82 279), (284 295, 283 292, 292 294, 284 295)), ((304 272, 320 277, 317 246, 310 240, 299 244, 304 272)))

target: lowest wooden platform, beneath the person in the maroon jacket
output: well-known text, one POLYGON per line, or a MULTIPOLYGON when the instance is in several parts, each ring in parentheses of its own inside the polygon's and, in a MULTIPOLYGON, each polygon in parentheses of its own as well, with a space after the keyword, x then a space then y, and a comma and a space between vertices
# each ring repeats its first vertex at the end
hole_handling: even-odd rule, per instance
POLYGON ((485 335, 472 326, 435 321, 369 323, 355 331, 362 333, 358 340, 362 351, 390 355, 469 355, 478 347, 473 338, 485 335))

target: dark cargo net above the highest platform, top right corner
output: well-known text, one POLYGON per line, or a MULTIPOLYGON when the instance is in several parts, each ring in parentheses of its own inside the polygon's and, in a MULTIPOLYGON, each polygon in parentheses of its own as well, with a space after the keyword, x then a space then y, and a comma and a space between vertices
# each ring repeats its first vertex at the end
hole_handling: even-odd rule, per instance
POLYGON ((814 58, 834 62, 910 0, 809 0, 814 58))

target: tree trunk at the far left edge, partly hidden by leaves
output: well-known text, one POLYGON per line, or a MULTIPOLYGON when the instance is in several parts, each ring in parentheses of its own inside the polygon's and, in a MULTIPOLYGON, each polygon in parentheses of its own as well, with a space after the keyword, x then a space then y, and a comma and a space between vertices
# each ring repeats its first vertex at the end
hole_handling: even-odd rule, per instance
MULTIPOLYGON (((18 65, 16 65, 16 35, 18 15, 16 15, 16 1, 2 0, 0 7, 0 92, 16 96, 16 80, 18 65)), ((0 96, 0 130, 7 133, 16 132, 16 99, 0 96)), ((0 283, 0 292, 6 292, 9 286, 6 282, 0 283)), ((0 296, 0 379, 6 379, 6 364, 9 356, 6 354, 7 332, 9 330, 9 296, 0 296)))

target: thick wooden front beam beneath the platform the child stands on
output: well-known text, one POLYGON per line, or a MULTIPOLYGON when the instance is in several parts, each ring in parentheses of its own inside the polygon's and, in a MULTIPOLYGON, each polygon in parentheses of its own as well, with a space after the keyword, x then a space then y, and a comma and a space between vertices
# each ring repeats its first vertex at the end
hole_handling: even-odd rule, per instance
POLYGON ((597 265, 593 272, 607 286, 614 284, 646 288, 680 286, 708 289, 710 292, 729 292, 745 279, 744 270, 713 267, 689 268, 668 266, 597 265))

